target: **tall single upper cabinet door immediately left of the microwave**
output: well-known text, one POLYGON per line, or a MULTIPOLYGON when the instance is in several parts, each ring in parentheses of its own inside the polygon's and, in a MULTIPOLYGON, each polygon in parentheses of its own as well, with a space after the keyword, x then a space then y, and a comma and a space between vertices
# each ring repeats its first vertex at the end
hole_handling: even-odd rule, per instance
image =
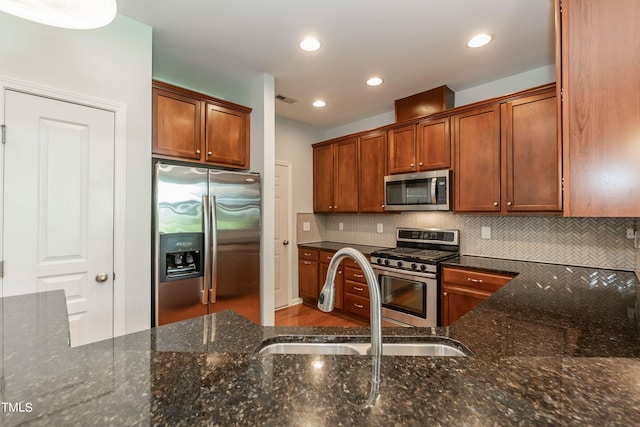
POLYGON ((386 132, 373 132, 360 138, 360 212, 384 212, 386 153, 386 132))

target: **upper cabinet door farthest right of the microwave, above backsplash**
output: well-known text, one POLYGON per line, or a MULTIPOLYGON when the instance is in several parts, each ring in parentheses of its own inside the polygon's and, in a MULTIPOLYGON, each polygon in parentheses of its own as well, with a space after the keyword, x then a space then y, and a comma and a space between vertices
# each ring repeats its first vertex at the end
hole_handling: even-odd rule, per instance
POLYGON ((504 106, 507 212, 562 210, 562 145, 555 92, 504 106))

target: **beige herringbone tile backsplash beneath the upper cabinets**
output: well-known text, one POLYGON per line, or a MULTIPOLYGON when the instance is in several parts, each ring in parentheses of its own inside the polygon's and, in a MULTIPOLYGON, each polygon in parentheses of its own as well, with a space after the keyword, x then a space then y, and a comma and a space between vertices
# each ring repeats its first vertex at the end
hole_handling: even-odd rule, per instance
MULTIPOLYGON (((460 230, 464 255, 617 270, 637 269, 639 257, 633 240, 626 238, 626 229, 636 228, 635 218, 493 217, 450 212, 300 214, 299 221, 301 217, 315 218, 320 224, 316 236, 326 241, 390 247, 395 246, 396 227, 454 228, 460 230), (383 233, 376 232, 378 224, 383 233), (491 228, 490 239, 482 238, 482 227, 491 228)), ((305 233, 300 230, 298 224, 298 242, 304 242, 305 233)))

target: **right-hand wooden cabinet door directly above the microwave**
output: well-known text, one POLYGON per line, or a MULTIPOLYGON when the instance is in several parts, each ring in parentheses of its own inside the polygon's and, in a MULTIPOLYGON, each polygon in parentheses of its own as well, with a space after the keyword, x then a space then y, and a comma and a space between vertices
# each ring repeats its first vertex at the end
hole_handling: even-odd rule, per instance
POLYGON ((418 170, 449 169, 451 167, 451 139, 449 117, 418 123, 418 170))

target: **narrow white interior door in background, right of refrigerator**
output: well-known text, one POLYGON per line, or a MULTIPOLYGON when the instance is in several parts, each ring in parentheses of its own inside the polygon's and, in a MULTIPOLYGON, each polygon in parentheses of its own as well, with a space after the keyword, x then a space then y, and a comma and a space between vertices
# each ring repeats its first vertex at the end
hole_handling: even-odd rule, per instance
POLYGON ((288 164, 276 164, 275 176, 275 308, 289 305, 291 289, 291 244, 289 243, 289 174, 288 164))

